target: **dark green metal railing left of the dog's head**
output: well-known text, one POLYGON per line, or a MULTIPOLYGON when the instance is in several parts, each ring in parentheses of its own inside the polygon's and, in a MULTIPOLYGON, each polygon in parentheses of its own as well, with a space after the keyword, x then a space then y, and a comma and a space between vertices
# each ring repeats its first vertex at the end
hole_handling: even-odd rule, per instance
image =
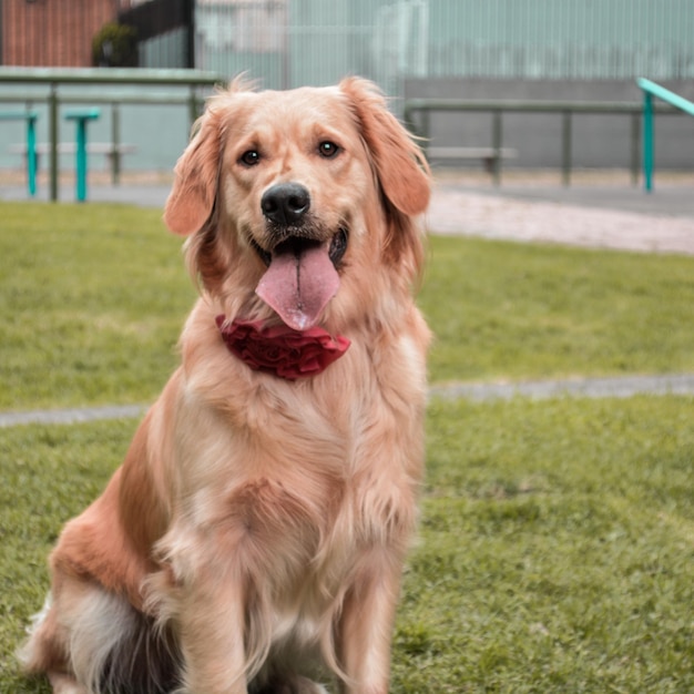
MULTIPOLYGON (((212 88, 223 82, 217 74, 201 72, 200 70, 143 70, 143 69, 52 69, 52 68, 0 68, 0 85, 21 84, 24 88, 45 86, 47 91, 27 91, 23 93, 12 92, 2 94, 0 103, 37 104, 44 101, 49 111, 49 185, 50 200, 58 200, 59 178, 59 111, 61 104, 67 103, 110 103, 113 109, 112 139, 118 149, 120 142, 120 124, 118 118, 118 104, 122 103, 187 103, 191 123, 200 114, 204 101, 200 93, 202 88, 212 88), (65 85, 104 85, 135 88, 129 94, 95 95, 74 93, 61 94, 60 89, 65 85), (155 95, 137 93, 135 90, 142 86, 176 86, 187 88, 187 96, 155 95)), ((118 159, 118 157, 115 157, 118 159)), ((118 164, 114 164, 118 165, 118 164)), ((114 175, 118 172, 114 170, 114 175)))

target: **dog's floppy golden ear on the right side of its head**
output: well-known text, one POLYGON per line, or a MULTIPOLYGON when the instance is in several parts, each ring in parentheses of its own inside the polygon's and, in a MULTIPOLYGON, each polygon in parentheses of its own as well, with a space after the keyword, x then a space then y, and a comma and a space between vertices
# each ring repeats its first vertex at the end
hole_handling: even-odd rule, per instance
POLYGON ((388 111, 375 84, 348 78, 339 86, 353 105, 386 197, 407 215, 421 214, 430 195, 429 166, 421 150, 388 111))

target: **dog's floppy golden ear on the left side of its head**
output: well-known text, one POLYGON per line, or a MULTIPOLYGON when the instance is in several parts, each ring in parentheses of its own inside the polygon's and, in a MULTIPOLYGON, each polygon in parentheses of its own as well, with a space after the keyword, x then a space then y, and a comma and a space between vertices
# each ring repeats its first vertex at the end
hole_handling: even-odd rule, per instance
POLYGON ((196 121, 196 132, 174 169, 164 222, 175 234, 195 233, 212 214, 222 150, 220 120, 218 112, 208 108, 196 121))

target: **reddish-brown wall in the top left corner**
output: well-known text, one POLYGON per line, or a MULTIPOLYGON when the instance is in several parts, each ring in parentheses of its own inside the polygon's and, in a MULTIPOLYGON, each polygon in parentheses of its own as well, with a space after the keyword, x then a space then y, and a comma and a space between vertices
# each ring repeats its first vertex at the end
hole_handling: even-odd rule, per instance
POLYGON ((118 17, 118 0, 1 0, 0 63, 92 65, 92 37, 118 17))

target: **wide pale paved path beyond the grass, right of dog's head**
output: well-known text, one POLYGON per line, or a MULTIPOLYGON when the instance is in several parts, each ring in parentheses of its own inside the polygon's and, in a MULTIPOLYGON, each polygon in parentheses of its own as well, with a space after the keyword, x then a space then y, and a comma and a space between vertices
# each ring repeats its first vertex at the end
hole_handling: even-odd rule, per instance
POLYGON ((694 255, 694 186, 500 188, 439 184, 427 216, 438 234, 694 255))

